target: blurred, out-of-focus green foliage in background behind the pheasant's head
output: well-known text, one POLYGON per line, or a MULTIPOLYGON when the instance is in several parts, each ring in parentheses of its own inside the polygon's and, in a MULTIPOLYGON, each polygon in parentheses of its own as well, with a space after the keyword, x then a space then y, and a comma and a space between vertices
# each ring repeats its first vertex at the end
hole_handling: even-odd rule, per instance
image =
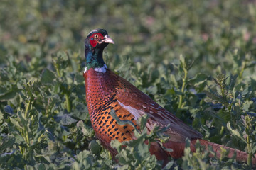
POLYGON ((254 1, 239 0, 3 0, 0 52, 40 71, 60 50, 71 49, 82 58, 87 33, 105 28, 116 42, 107 50, 110 64, 119 55, 143 68, 156 67, 178 62, 182 54, 198 65, 191 74, 212 74, 218 66, 234 67, 234 50, 255 55, 255 8, 254 1))

